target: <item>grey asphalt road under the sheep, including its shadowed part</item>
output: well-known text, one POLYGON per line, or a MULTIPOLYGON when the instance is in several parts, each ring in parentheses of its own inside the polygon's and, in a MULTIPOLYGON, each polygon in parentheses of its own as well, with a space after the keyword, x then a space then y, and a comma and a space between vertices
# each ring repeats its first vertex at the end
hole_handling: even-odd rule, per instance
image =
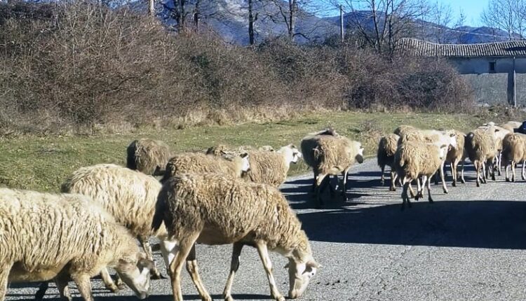
MULTIPOLYGON (((353 167, 349 201, 327 200, 312 209, 311 174, 282 187, 323 265, 300 300, 526 300, 526 186, 497 177, 476 188, 468 183, 445 195, 431 186, 426 198, 400 211, 395 193, 379 186, 375 160, 353 167)), ((520 172, 518 173, 520 179, 520 172)), ((328 193, 325 197, 329 197, 328 193)), ((1 246, 0 246, 1 247, 1 246)), ((197 246, 201 276, 211 295, 221 293, 230 265, 231 246, 197 246)), ((156 254, 161 271, 163 262, 156 254)), ((272 254, 274 276, 288 293, 287 260, 272 254)), ((79 297, 74 283, 69 284, 79 297)), ((58 299, 54 285, 46 298, 58 299)), ((96 300, 136 300, 126 288, 109 293, 93 280, 96 300)), ((29 300, 36 284, 11 284, 6 300, 29 300)), ((269 300, 269 286, 254 248, 245 247, 232 289, 236 300, 269 300)), ((200 300, 189 275, 183 276, 185 300, 200 300)), ((152 281, 148 300, 172 300, 168 279, 152 281)))

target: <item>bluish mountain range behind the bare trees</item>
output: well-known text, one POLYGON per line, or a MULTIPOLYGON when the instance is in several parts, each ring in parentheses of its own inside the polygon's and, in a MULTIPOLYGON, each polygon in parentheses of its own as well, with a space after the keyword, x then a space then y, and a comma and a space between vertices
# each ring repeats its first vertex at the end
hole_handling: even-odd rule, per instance
MULTIPOLYGON (((174 0, 161 0, 157 2, 156 8, 159 18, 166 25, 175 25, 175 20, 170 13, 174 7, 174 0)), ((187 0, 189 8, 193 7, 196 0, 187 0)), ((257 42, 265 38, 283 36, 287 34, 287 26, 283 22, 279 6, 288 8, 288 2, 256 1, 253 3, 253 11, 257 13, 255 21, 255 38, 257 42), (265 3, 265 4, 264 4, 265 3)), ((144 1, 135 2, 135 9, 146 10, 144 1)), ((248 44, 248 5, 246 0, 215 0, 201 1, 200 24, 210 31, 224 38, 229 43, 241 45, 248 44)), ((373 28, 370 20, 370 11, 358 10, 344 15, 346 30, 352 30, 353 25, 359 22, 366 29, 373 28)), ((382 20, 380 20, 382 22, 382 20)), ((490 27, 444 27, 433 22, 414 20, 412 36, 426 41, 436 43, 488 43, 494 41, 508 41, 508 33, 501 29, 490 27)), ((339 16, 320 18, 312 13, 299 10, 296 22, 295 41, 304 43, 306 41, 323 41, 325 38, 339 34, 339 16)), ((514 35, 514 38, 520 38, 514 35)))

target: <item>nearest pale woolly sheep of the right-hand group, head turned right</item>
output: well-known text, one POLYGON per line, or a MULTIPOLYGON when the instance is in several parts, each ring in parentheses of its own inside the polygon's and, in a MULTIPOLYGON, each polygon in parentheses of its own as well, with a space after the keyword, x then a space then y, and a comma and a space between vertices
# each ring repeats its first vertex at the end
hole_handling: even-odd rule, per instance
MULTIPOLYGON (((398 147, 395 153, 394 166, 403 183, 402 209, 405 208, 405 203, 411 207, 407 188, 409 188, 411 181, 417 180, 419 176, 422 176, 422 189, 418 185, 415 199, 418 200, 419 197, 422 197, 422 190, 427 182, 428 200, 431 203, 433 202, 431 177, 443 165, 446 153, 446 144, 428 144, 423 141, 407 141, 398 147)), ((417 183, 419 182, 417 181, 417 183)))

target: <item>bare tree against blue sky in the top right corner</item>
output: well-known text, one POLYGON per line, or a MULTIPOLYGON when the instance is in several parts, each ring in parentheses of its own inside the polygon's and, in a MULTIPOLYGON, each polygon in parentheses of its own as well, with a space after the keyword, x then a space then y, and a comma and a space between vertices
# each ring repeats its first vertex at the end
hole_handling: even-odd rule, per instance
POLYGON ((515 34, 525 34, 525 5, 525 0, 490 0, 480 19, 487 27, 506 31, 511 41, 515 39, 515 34))

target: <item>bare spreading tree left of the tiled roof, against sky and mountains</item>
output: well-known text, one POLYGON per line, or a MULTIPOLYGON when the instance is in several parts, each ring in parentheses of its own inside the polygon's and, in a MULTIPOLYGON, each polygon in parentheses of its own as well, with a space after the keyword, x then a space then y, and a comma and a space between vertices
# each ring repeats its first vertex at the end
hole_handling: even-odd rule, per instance
POLYGON ((329 0, 342 5, 347 22, 367 45, 379 53, 392 53, 400 38, 414 36, 415 20, 429 12, 425 0, 329 0))

